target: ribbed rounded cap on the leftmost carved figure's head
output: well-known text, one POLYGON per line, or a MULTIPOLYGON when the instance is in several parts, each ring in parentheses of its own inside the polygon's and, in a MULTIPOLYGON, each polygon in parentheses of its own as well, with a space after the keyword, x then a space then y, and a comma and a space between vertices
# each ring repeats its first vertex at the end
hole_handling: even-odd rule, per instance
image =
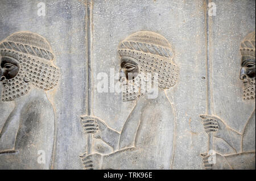
POLYGON ((16 32, 0 43, 0 49, 15 50, 32 56, 53 60, 54 56, 48 41, 32 32, 16 32))

